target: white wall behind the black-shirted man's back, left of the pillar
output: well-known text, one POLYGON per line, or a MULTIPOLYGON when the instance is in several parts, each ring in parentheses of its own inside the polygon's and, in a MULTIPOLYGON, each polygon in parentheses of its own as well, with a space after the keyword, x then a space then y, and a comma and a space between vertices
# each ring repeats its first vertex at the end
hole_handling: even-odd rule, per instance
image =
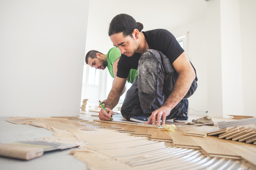
POLYGON ((207 115, 207 44, 206 15, 188 22, 176 29, 169 30, 175 37, 187 35, 187 56, 196 69, 198 88, 188 98, 189 114, 207 115), (192 110, 193 109, 193 110, 192 110))

